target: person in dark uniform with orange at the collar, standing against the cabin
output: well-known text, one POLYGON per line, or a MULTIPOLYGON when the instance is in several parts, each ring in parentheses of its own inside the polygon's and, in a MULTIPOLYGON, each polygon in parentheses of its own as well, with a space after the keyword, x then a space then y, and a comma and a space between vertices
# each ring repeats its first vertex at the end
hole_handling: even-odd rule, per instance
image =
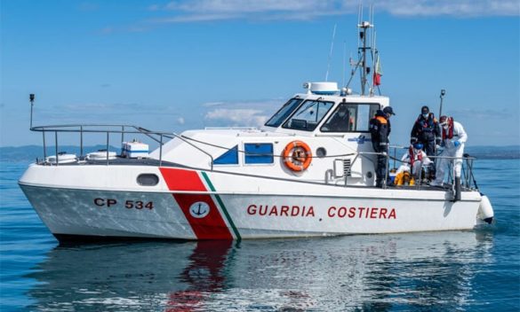
POLYGON ((387 106, 382 111, 378 110, 370 121, 372 148, 374 152, 380 153, 377 156, 376 187, 382 187, 387 177, 388 136, 392 130, 390 116, 395 114, 392 107, 387 106))

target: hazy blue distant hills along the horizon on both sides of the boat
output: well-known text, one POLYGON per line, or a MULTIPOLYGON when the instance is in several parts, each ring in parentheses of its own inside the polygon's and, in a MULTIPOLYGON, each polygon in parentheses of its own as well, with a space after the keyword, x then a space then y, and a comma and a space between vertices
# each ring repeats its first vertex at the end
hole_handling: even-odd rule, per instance
MULTIPOLYGON (((106 145, 84 146, 84 153, 106 149, 106 145)), ((118 147, 110 146, 110 151, 121 152, 118 147)), ((79 154, 79 146, 63 145, 60 152, 79 154)), ((467 146, 465 152, 480 160, 520 160, 520 145, 509 146, 467 146)), ((47 156, 54 155, 54 146, 47 146, 47 156)), ((0 147, 2 161, 33 161, 44 157, 44 148, 38 145, 19 147, 0 147)))

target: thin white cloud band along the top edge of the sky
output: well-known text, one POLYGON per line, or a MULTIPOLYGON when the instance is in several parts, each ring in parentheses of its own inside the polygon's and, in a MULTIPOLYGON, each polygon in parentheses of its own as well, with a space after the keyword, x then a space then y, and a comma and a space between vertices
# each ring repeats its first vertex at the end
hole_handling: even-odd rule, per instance
MULTIPOLYGON (((518 16, 517 0, 375 0, 376 13, 395 16, 518 16)), ((178 0, 150 6, 166 11, 171 17, 156 19, 158 23, 210 20, 315 20, 324 16, 356 13, 358 1, 348 0, 178 0)), ((366 4, 368 5, 368 4, 366 4)))

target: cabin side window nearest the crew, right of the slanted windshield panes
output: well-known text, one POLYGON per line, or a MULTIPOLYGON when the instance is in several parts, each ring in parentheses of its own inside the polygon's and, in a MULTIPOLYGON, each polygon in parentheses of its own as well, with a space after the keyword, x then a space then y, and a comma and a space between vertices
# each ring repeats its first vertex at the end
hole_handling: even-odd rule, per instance
POLYGON ((368 132, 369 121, 380 109, 379 104, 341 103, 324 123, 322 132, 368 132))

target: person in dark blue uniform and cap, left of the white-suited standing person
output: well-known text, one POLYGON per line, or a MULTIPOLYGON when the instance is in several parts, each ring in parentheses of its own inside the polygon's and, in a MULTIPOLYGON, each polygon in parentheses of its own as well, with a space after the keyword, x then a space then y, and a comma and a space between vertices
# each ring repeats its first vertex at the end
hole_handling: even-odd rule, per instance
MULTIPOLYGON (((434 113, 429 112, 428 106, 420 108, 420 115, 413 124, 410 134, 410 144, 422 144, 423 151, 428 156, 436 155, 436 145, 441 144, 441 129, 434 113)), ((436 167, 432 163, 428 168, 429 176, 435 179, 436 167)))

